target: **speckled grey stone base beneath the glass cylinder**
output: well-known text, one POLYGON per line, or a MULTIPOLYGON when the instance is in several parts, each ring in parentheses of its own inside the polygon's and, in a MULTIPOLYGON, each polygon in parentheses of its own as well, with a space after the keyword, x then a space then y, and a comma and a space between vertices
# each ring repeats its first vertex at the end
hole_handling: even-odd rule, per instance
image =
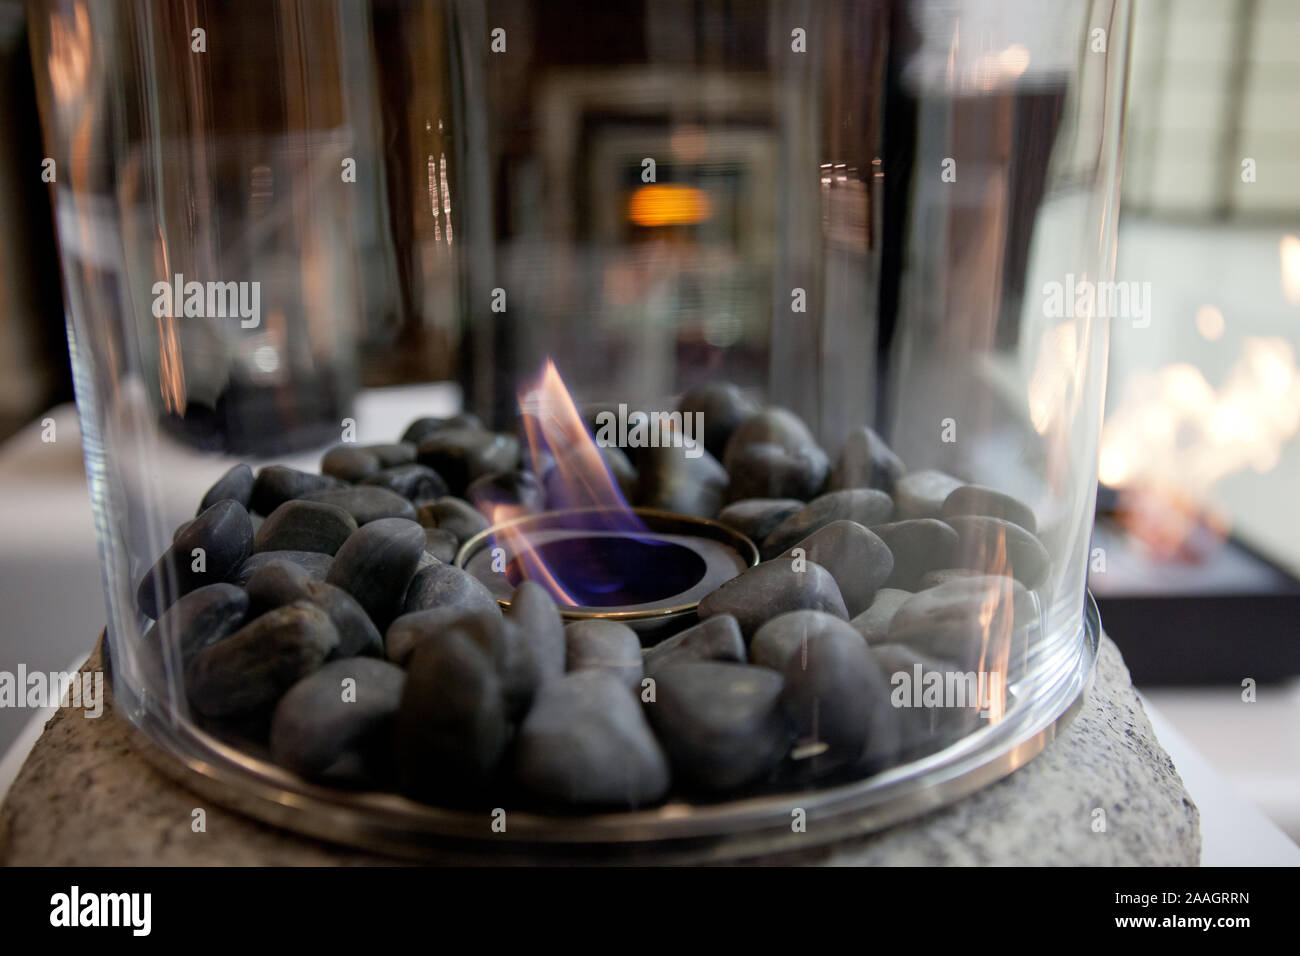
MULTIPOLYGON (((96 650, 84 667, 100 666, 96 650)), ((1027 766, 910 823, 759 862, 1195 866, 1200 853, 1200 814, 1102 639, 1089 698, 1027 766)), ((0 806, 4 865, 389 862, 209 805, 135 754, 108 709, 94 721, 55 714, 0 806), (191 826, 198 808, 204 832, 191 826)))

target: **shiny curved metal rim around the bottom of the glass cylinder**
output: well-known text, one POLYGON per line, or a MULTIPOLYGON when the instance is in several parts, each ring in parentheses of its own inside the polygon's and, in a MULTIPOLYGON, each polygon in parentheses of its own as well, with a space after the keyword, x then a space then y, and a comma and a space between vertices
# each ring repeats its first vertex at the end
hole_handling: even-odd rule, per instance
POLYGON ((488 810, 320 787, 188 722, 165 722, 143 709, 126 719, 136 749, 177 783, 229 809, 332 843, 447 862, 741 860, 863 836, 956 803, 1024 766, 1065 728, 1091 685, 1101 639, 1091 594, 1083 617, 1078 653, 1062 656, 1069 659, 1032 695, 1018 695, 1001 722, 875 777, 725 803, 675 800, 630 813, 559 817, 510 810, 506 832, 493 832, 488 810), (790 831, 794 806, 807 814, 806 832, 790 831))

